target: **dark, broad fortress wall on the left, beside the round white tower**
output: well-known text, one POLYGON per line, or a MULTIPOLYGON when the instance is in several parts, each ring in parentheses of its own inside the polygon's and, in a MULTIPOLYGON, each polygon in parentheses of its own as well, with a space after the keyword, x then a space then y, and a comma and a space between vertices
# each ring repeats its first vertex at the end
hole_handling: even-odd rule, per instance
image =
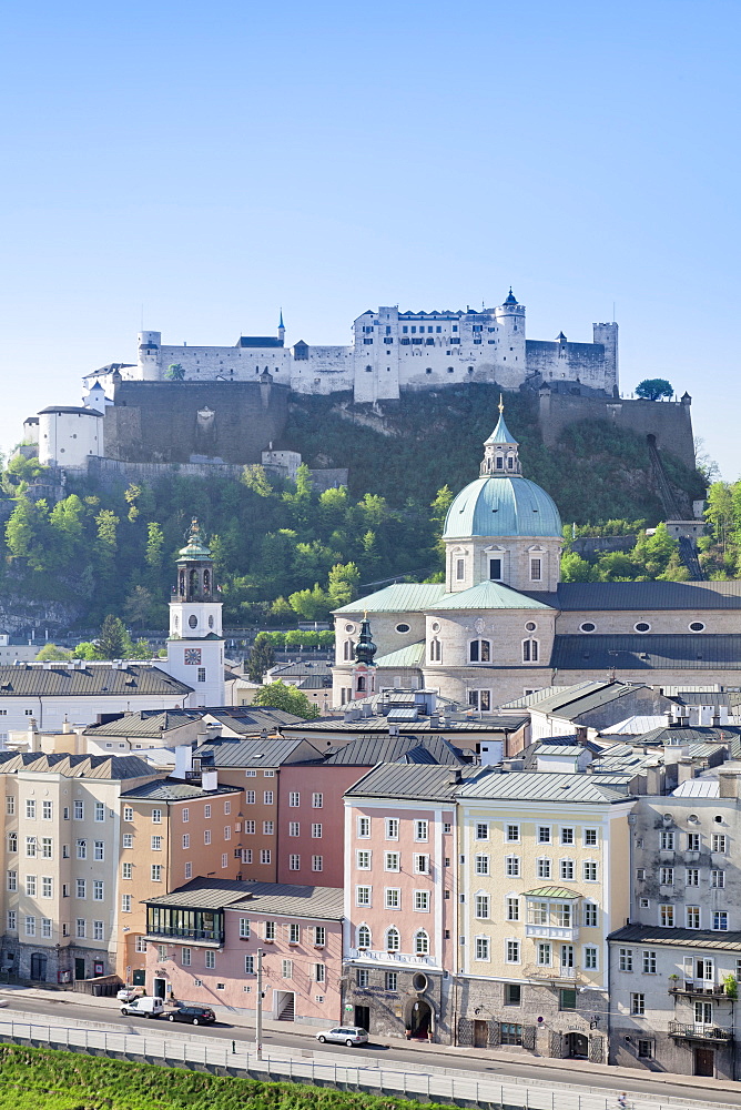
POLYGON ((114 396, 105 454, 140 463, 260 463, 288 413, 287 387, 257 382, 121 382, 114 396))

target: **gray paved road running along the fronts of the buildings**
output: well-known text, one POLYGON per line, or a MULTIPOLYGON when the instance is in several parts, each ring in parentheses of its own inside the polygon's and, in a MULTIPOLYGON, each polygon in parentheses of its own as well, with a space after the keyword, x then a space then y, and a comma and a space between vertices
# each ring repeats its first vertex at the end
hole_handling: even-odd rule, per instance
MULTIPOLYGON (((251 1048, 254 1043, 254 1030, 244 1026, 231 1026, 223 1021, 219 1021, 214 1026, 199 1026, 197 1029, 194 1029, 190 1025, 180 1022, 171 1025, 163 1021, 162 1018, 148 1021, 143 1018, 124 1017, 118 1008, 85 1005, 84 1002, 77 1001, 72 1002, 60 996, 50 996, 49 999, 38 999, 13 993, 12 996, 6 995, 3 997, 8 1001, 8 1007, 12 1008, 12 1010, 28 1013, 29 1019, 38 1017, 44 1022, 48 1020, 51 1025, 63 1025, 67 1019, 75 1019, 104 1023, 111 1029, 121 1032, 143 1033, 146 1031, 148 1035, 164 1032, 164 1029, 160 1028, 164 1026, 168 1031, 172 1033, 177 1032, 181 1036, 196 1035, 199 1038, 207 1037, 229 1042, 236 1040, 240 1049, 251 1048)), ((2 1017, 3 1011, 0 1010, 0 1020, 2 1020, 2 1017)), ((316 1052, 321 1056, 325 1053, 331 1057, 337 1056, 339 1058, 337 1062, 341 1062, 343 1056, 347 1057, 348 1054, 348 1049, 342 1045, 319 1046, 314 1038, 307 1037, 305 1033, 292 1033, 288 1030, 285 1032, 272 1029, 264 1031, 263 1046, 266 1053, 271 1049, 287 1048, 294 1051, 316 1052)), ((468 1054, 466 1050, 461 1050, 460 1056, 458 1056, 450 1052, 434 1052, 429 1049, 424 1051, 416 1050, 415 1048, 407 1048, 405 1045, 394 1042, 373 1043, 362 1048, 356 1047, 351 1052, 353 1057, 365 1057, 368 1059, 368 1062, 374 1061, 384 1068, 392 1067, 393 1064, 412 1064, 415 1071, 420 1068, 433 1067, 458 1071, 465 1070, 466 1072, 491 1079, 495 1082, 498 1080, 515 1079, 529 1083, 542 1083, 548 1087, 566 1083, 571 1089, 582 1089, 585 1093, 587 1091, 596 1093, 605 1092, 606 1094, 615 1092, 616 1098, 621 1091, 627 1091, 629 1094, 654 1099, 657 1102, 677 1099, 693 1102, 697 1107, 723 1103, 741 1108, 741 1084, 739 1084, 738 1093, 728 1090, 713 1091, 712 1081, 709 1081, 706 1090, 701 1090, 697 1086, 683 1084, 681 1080, 678 1082, 660 1083, 646 1081, 640 1073, 637 1073, 636 1078, 632 1078, 627 1077, 625 1071, 619 1076, 610 1076, 608 1071, 601 1069, 596 1069, 593 1072, 579 1071, 573 1069, 570 1062, 567 1061, 562 1063, 554 1061, 546 1069, 534 1067, 529 1059, 521 1061, 519 1059, 512 1059, 511 1061, 503 1061, 500 1059, 487 1060, 480 1056, 468 1054)))

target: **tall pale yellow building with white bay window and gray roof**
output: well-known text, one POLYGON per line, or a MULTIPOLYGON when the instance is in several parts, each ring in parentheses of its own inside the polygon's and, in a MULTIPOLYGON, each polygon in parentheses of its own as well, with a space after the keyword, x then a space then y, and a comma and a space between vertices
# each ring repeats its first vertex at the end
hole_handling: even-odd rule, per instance
POLYGON ((590 775, 496 770, 457 797, 458 1043, 605 1062, 635 799, 590 775))

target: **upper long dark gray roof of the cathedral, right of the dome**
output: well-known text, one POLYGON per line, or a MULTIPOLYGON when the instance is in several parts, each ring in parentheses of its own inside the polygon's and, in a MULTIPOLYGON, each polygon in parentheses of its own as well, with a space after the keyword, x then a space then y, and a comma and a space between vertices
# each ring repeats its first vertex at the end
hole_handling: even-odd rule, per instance
POLYGON ((741 609, 741 582, 562 582, 551 605, 564 610, 741 609))

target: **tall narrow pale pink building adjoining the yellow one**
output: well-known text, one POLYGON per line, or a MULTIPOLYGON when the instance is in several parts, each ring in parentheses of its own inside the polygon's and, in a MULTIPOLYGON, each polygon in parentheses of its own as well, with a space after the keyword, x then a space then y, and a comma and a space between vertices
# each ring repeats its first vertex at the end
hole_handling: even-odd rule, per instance
POLYGON ((451 1041, 465 774, 387 764, 345 796, 344 1002, 374 1035, 451 1041))

